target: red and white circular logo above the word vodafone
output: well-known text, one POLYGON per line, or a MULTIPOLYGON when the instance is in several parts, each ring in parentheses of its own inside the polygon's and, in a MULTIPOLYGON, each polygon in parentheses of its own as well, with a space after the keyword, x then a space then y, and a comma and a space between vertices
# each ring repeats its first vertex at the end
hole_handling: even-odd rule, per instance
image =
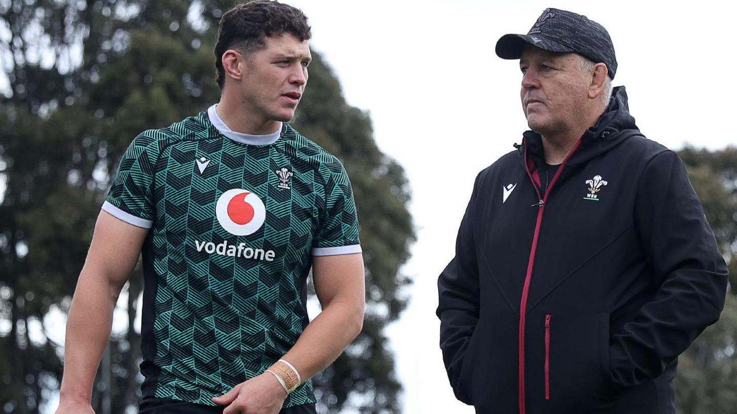
POLYGON ((228 190, 217 199, 217 221, 228 233, 248 236, 261 228, 266 208, 259 196, 244 189, 228 190))

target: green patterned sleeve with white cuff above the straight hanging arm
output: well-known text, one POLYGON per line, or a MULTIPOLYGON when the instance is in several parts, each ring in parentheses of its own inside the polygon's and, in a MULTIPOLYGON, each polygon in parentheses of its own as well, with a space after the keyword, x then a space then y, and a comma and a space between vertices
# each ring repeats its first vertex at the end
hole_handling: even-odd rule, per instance
POLYGON ((102 210, 129 224, 151 228, 154 217, 153 176, 157 158, 156 138, 144 134, 137 136, 120 161, 102 210))

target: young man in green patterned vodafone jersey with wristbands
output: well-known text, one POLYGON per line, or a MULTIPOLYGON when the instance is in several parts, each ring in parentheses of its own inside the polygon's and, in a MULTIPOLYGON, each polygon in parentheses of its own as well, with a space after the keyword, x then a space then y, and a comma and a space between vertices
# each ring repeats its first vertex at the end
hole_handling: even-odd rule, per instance
POLYGON ((74 293, 57 413, 92 413, 116 298, 144 263, 141 413, 315 413, 308 380, 363 323, 363 259, 337 158, 292 119, 310 27, 276 1, 223 15, 218 105, 125 153, 74 293), (312 268, 323 311, 311 323, 312 268))

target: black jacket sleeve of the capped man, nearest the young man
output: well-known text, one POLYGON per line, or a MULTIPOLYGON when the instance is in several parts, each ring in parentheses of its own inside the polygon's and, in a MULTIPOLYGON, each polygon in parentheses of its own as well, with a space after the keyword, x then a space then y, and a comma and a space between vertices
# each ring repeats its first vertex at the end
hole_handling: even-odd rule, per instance
POLYGON ((471 404, 468 392, 458 384, 466 350, 478 322, 479 287, 476 246, 473 234, 474 204, 478 189, 477 176, 471 200, 466 208, 458 237, 455 241, 455 257, 438 278, 440 318, 440 348, 443 362, 456 398, 471 404))

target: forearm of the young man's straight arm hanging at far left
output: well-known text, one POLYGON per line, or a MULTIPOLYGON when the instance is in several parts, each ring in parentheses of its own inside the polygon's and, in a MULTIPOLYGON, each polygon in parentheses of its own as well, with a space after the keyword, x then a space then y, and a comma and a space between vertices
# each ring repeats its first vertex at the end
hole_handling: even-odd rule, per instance
POLYGON ((120 288, 87 266, 80 274, 66 323, 61 399, 91 400, 95 373, 108 345, 120 288))

